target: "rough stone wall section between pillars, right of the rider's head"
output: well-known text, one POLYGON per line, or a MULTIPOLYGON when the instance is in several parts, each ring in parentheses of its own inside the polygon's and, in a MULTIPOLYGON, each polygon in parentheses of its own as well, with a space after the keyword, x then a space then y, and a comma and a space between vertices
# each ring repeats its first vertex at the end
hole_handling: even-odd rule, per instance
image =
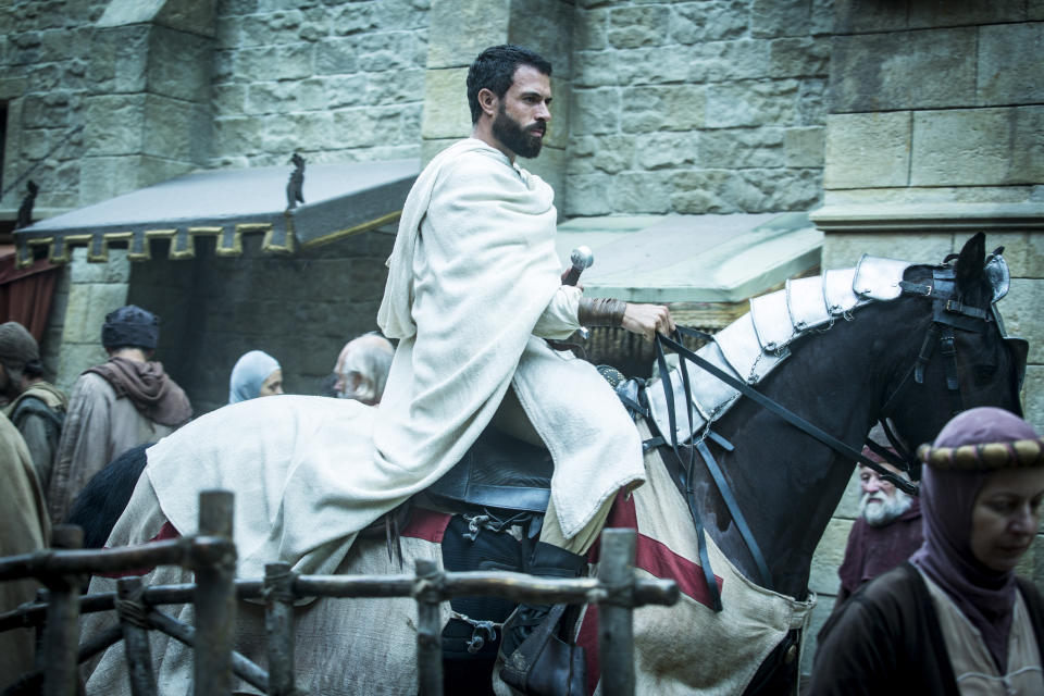
POLYGON ((815 208, 830 0, 577 2, 567 215, 815 208))

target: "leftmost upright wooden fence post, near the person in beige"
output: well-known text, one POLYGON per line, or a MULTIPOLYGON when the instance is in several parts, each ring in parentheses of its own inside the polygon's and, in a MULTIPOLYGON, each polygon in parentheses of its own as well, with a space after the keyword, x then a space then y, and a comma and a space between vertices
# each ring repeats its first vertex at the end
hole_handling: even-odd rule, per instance
MULTIPOLYGON (((84 531, 72 524, 58 524, 51 531, 53 548, 83 548, 84 531)), ((77 575, 44 579, 49 591, 47 626, 44 629, 45 696, 73 696, 78 680, 79 585, 77 575)))

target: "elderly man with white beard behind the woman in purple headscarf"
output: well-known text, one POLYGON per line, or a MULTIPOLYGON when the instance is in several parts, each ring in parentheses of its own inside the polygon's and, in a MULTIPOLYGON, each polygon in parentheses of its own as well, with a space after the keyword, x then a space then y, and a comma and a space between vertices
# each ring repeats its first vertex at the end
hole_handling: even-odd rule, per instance
MULTIPOLYGON (((862 455, 904 475, 870 448, 863 448, 862 455)), ((859 467, 859 481, 862 487, 859 517, 852 525, 845 559, 837 569, 841 588, 835 608, 860 585, 909 558, 923 539, 921 506, 917 498, 884 481, 869 467, 859 467)))

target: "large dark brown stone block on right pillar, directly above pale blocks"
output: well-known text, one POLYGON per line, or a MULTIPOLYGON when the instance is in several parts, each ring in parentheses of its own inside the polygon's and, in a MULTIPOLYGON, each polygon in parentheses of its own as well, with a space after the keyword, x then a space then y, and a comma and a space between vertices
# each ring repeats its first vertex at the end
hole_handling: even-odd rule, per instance
POLYGON ((835 37, 831 111, 973 105, 974 45, 974 28, 835 37))

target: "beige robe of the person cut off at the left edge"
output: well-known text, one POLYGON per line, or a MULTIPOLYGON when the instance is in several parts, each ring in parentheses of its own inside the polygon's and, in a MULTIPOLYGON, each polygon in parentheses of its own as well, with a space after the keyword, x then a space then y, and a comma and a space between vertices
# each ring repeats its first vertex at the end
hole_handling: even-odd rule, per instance
MULTIPOLYGON (((25 440, 8 417, 0 413, 0 556, 16 556, 41 549, 51 531, 44 494, 36 480, 25 440)), ((40 584, 35 580, 0 583, 0 612, 32 601, 40 584)), ((32 669, 34 632, 16 629, 0 633, 0 686, 7 686, 32 669)))

